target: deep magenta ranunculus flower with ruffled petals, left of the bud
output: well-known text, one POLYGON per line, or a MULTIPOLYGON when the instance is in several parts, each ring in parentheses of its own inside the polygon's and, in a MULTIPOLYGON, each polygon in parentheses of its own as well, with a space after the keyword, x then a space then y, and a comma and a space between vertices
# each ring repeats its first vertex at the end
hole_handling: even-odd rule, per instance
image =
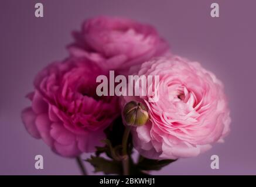
POLYGON ((95 151, 104 129, 119 114, 117 98, 96 95, 101 74, 84 58, 53 63, 39 72, 35 91, 28 95, 32 106, 22 112, 28 132, 64 157, 95 151))

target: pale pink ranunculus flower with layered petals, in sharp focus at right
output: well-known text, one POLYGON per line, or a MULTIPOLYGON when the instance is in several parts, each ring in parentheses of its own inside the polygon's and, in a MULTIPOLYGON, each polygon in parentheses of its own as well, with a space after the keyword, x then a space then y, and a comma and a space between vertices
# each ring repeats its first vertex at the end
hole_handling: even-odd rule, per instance
POLYGON ((173 56, 148 61, 137 74, 159 75, 159 84, 154 85, 157 102, 149 102, 150 96, 121 100, 122 106, 136 101, 148 108, 148 122, 132 128, 134 146, 141 155, 152 159, 194 157, 209 150, 212 143, 223 141, 230 130, 230 112, 223 84, 213 73, 199 63, 173 56))

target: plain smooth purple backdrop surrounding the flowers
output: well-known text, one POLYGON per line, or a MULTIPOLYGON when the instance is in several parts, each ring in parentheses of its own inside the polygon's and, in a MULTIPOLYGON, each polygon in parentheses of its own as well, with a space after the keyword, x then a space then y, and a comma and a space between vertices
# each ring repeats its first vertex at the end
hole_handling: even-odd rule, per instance
POLYGON ((74 160, 53 154, 42 140, 29 136, 20 113, 29 105, 24 96, 32 91, 36 73, 65 58, 70 32, 97 15, 150 23, 169 41, 173 53, 199 61, 226 86, 232 118, 226 142, 152 174, 256 174, 256 1, 1 0, 0 4, 0 174, 80 174, 74 160), (35 18, 36 2, 43 3, 45 18, 35 18), (219 2, 220 18, 210 17, 213 2, 219 2), (37 154, 44 157, 43 170, 34 167, 37 154), (210 168, 213 154, 220 157, 220 169, 210 168))

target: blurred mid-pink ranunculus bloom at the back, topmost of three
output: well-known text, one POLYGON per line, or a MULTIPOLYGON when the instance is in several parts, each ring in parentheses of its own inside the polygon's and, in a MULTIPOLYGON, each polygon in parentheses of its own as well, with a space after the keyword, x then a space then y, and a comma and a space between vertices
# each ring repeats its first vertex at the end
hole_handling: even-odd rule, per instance
POLYGON ((71 56, 87 57, 106 70, 128 71, 152 57, 168 53, 168 44, 149 25, 124 18, 100 16, 88 19, 74 32, 71 56))

